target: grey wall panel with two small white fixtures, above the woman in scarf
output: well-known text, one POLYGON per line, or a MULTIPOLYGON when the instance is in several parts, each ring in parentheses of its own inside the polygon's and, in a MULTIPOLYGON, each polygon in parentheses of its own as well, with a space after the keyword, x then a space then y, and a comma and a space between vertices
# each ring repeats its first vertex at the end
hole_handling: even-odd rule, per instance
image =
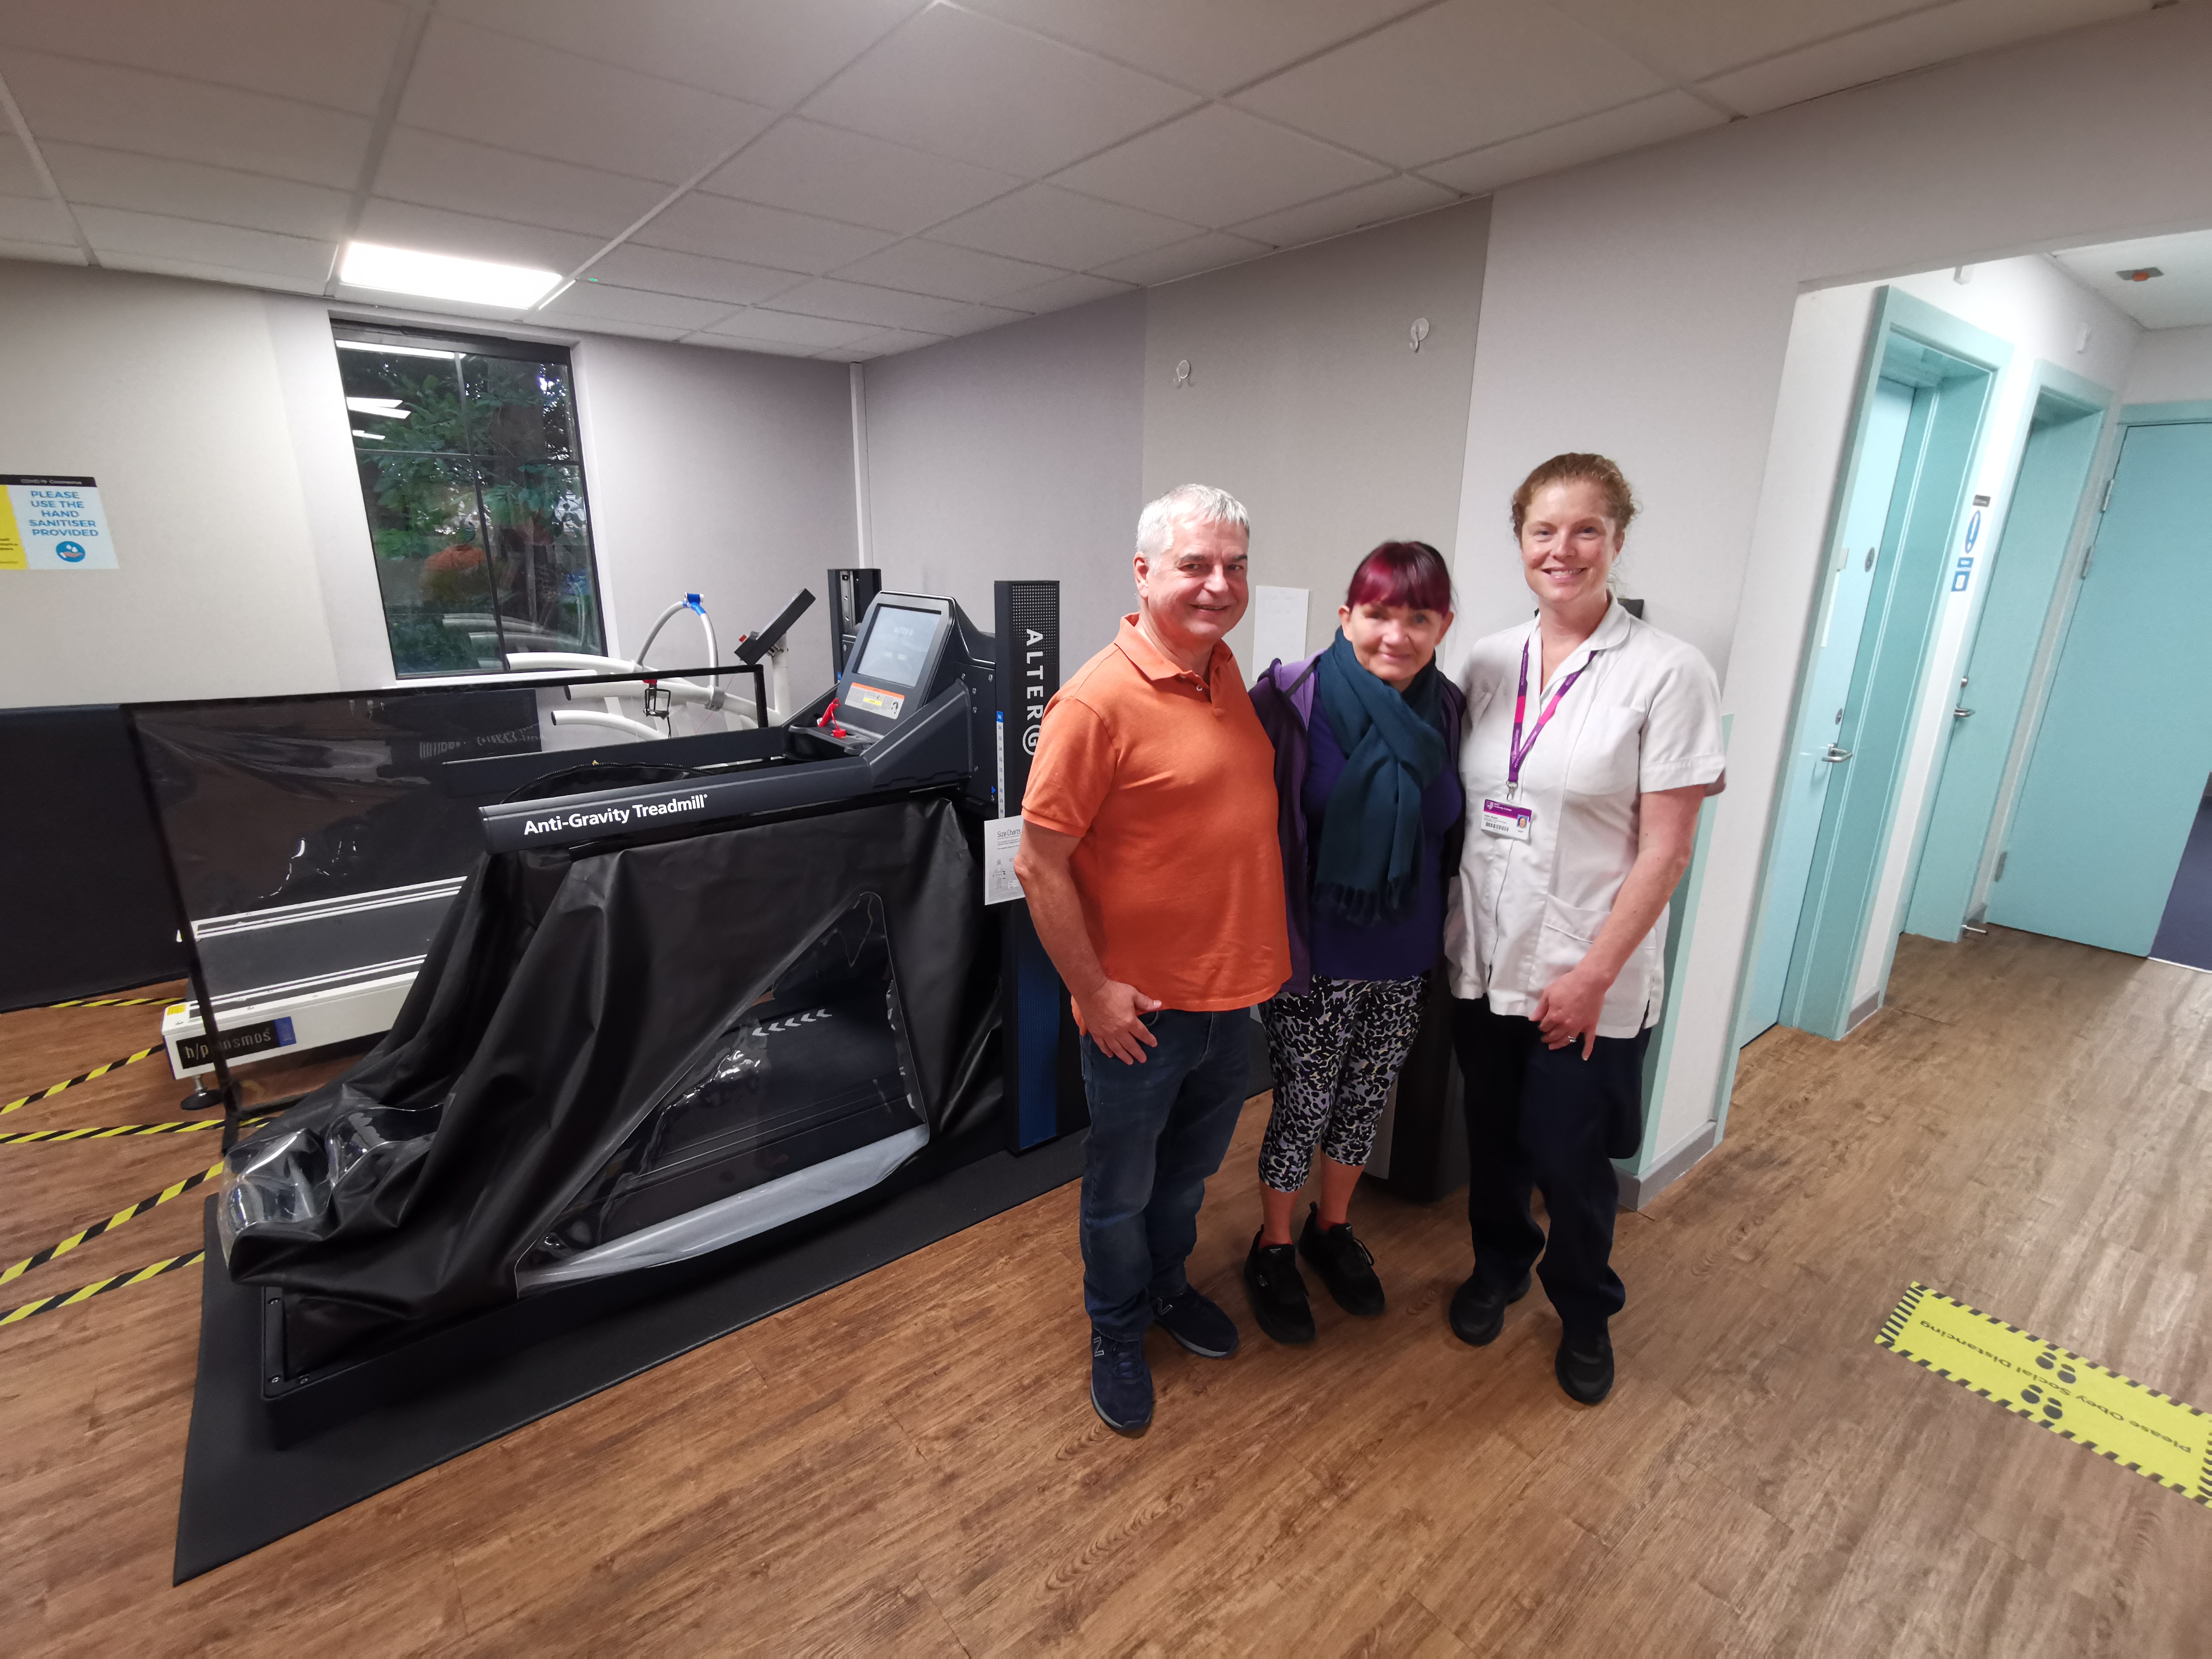
MULTIPOLYGON (((1237 495, 1252 580, 1312 593, 1307 648, 1376 542, 1453 553, 1486 230, 1473 201, 1150 290, 1144 495, 1237 495)), ((1265 668, 1250 619, 1230 646, 1248 677, 1265 668)))

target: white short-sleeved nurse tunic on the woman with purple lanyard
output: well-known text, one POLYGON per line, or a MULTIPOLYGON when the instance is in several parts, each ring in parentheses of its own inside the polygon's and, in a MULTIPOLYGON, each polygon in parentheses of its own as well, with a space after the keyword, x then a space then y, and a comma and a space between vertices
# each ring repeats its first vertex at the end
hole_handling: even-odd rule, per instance
MULTIPOLYGON (((1553 980, 1590 949, 1637 860, 1637 801, 1721 776, 1721 690, 1694 646, 1606 608, 1540 690, 1537 622, 1475 641, 1462 672, 1467 739, 1467 849, 1444 909, 1451 993, 1491 1000, 1493 1013, 1535 1018, 1553 980), (1482 830, 1482 803, 1506 799, 1513 699, 1528 650, 1522 741, 1553 688, 1582 668, 1520 768, 1528 838, 1482 830)), ((1657 1022, 1666 911, 1644 936, 1597 1018, 1599 1037, 1632 1037, 1657 1022)))

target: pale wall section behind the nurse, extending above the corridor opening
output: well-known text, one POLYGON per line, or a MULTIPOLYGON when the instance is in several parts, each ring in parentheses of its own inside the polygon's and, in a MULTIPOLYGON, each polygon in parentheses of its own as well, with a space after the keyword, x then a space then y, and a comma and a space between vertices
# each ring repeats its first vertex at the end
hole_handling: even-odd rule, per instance
MULTIPOLYGON (((2212 226, 2212 9, 2172 7, 1971 58, 1495 197, 1460 502, 1471 633, 1526 613, 1478 535, 1559 449, 1644 495, 1624 575, 1723 670, 1734 712, 1661 1157, 1712 1117, 1812 617, 1845 409, 1783 411, 1809 285, 2212 226), (1807 449, 1809 445, 1809 449, 1807 449)), ((1836 312, 1849 312, 1838 303, 1836 312)), ((1823 312, 1823 327, 1849 316, 1823 312)), ((1847 403, 1847 394, 1843 398, 1847 403)))

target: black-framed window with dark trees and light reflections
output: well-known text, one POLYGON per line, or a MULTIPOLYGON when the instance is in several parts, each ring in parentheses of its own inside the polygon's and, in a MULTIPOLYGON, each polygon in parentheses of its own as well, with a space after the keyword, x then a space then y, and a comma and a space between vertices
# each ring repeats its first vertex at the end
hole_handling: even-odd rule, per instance
POLYGON ((557 345, 334 325, 400 675, 604 650, 575 380, 557 345))

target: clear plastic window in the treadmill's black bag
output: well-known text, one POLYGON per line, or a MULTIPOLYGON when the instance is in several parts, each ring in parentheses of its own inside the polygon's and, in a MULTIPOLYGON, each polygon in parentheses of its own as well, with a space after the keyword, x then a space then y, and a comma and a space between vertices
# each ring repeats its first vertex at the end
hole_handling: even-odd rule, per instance
POLYGON ((883 900, 737 1011, 522 1256, 522 1292, 697 1256, 883 1181, 929 1141, 883 900))

